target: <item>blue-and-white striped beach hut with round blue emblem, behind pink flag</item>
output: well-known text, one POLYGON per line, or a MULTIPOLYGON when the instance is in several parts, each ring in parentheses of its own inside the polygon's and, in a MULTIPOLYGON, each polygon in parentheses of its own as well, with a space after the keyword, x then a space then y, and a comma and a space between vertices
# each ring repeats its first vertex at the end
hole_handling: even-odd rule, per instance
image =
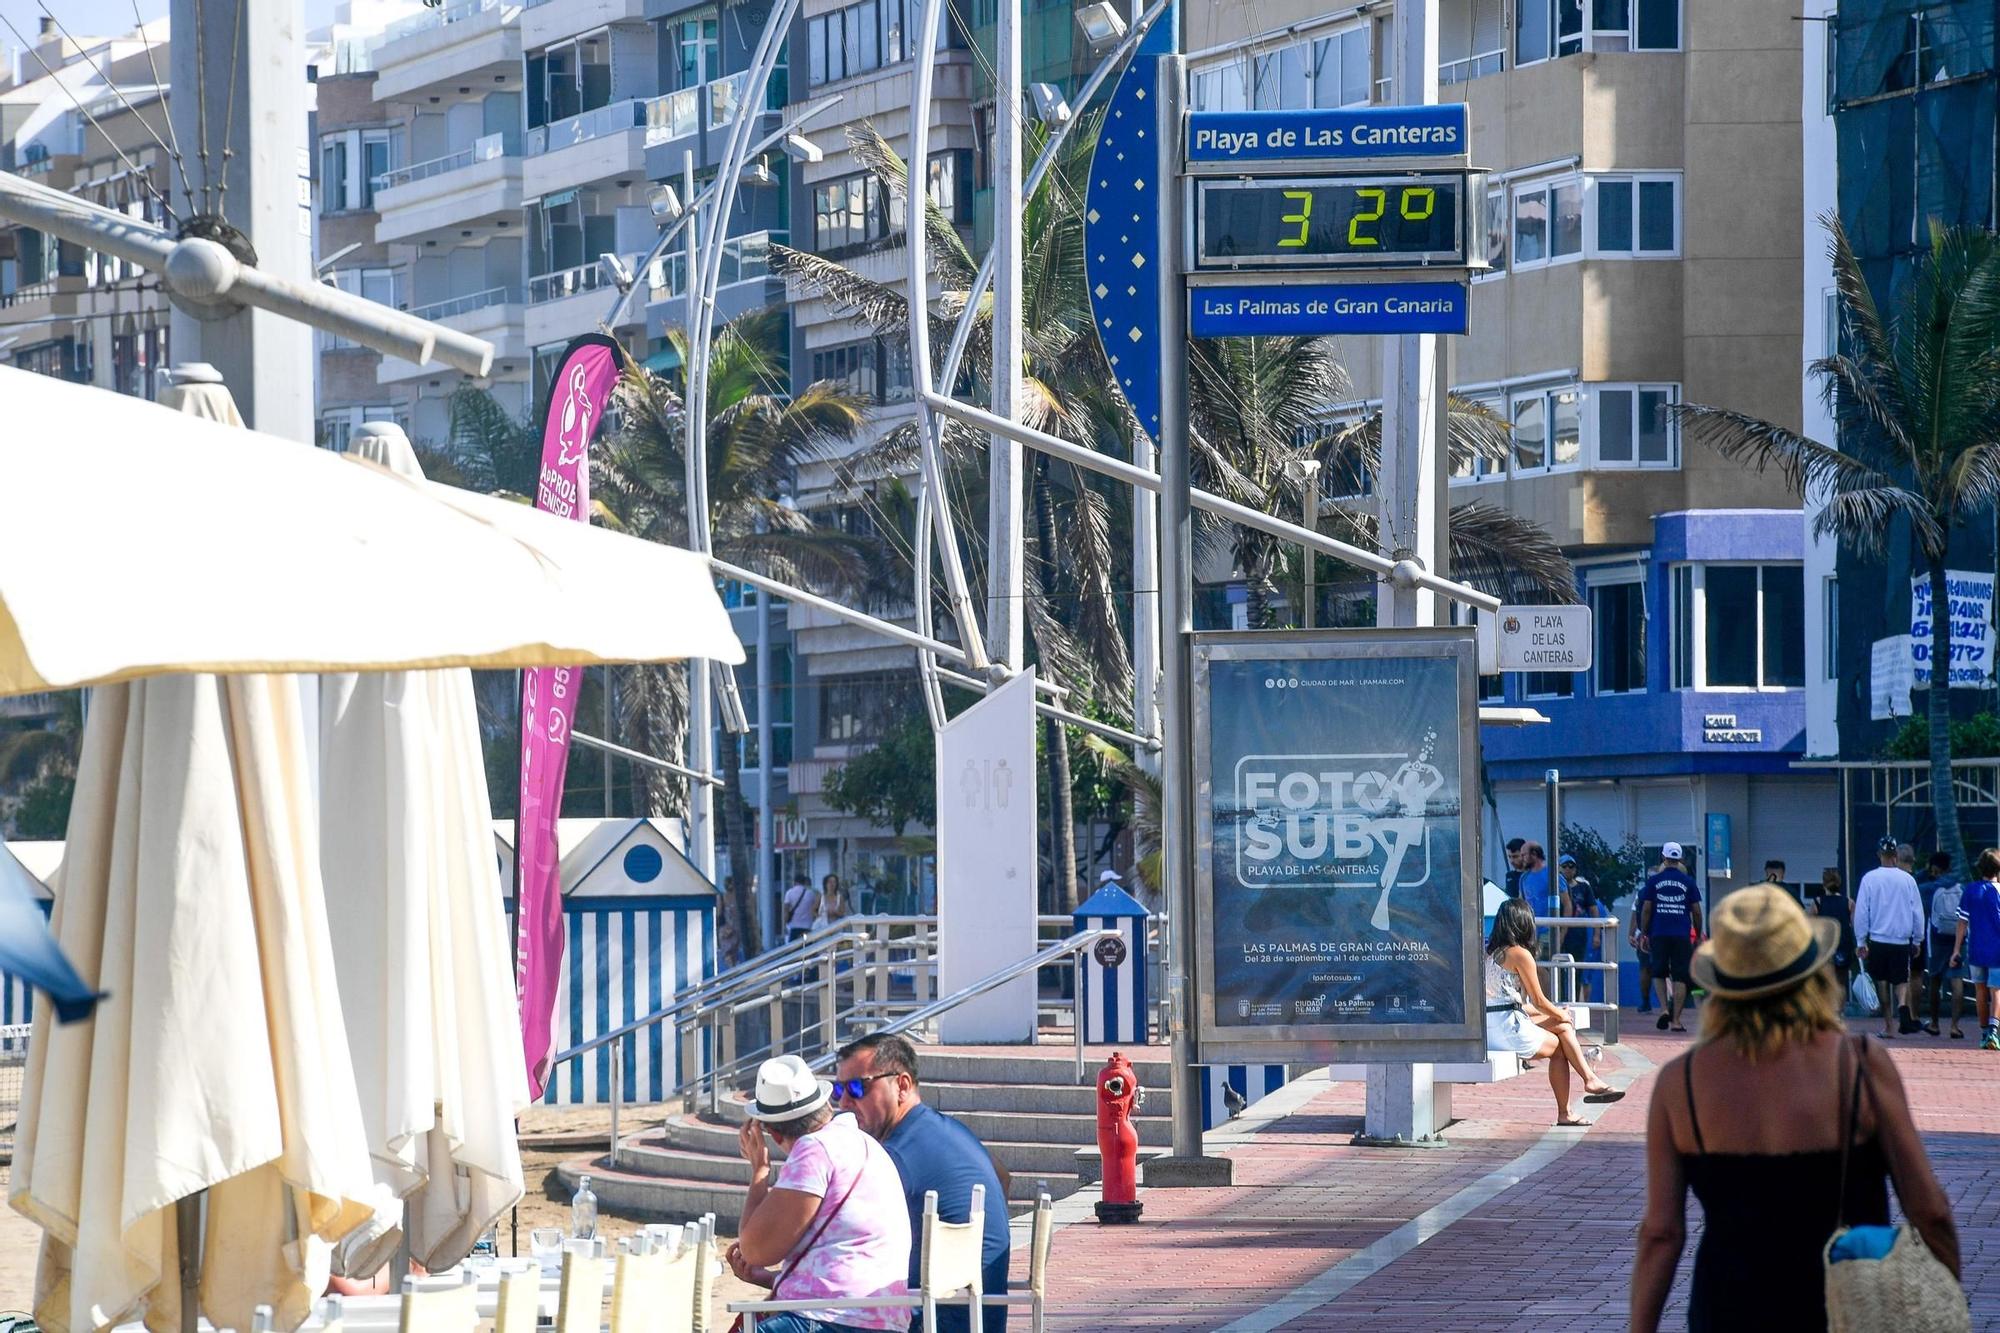
MULTIPOLYGON (((494 833, 512 921, 512 821, 494 833)), ((716 887, 682 853, 674 819, 564 819, 556 837, 566 941, 554 1031, 556 1051, 566 1051, 714 975, 716 887)), ((656 1025, 624 1043, 622 1099, 664 1101, 694 1073, 674 1025, 656 1025)), ((602 1103, 610 1089, 606 1045, 560 1065, 542 1101, 602 1103)))

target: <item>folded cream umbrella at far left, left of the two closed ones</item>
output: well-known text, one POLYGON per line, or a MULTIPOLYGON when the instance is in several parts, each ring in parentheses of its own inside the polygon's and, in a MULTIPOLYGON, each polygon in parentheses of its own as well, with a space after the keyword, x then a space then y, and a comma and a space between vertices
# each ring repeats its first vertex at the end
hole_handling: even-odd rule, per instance
POLYGON ((206 1191, 200 1305, 296 1327, 374 1179, 320 887, 300 687, 98 689, 52 929, 106 993, 36 1015, 8 1201, 44 1329, 180 1327, 176 1203, 206 1191))

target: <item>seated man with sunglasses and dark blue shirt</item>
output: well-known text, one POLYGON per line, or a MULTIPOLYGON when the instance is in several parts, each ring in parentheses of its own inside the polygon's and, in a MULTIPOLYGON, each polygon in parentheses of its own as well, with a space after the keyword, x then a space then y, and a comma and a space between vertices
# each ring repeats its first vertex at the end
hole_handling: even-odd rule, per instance
MULTIPOLYGON (((1006 1293, 1008 1269, 1008 1173, 994 1161, 978 1137, 924 1105, 916 1087, 916 1047, 894 1033, 872 1033, 840 1047, 834 1079, 834 1099, 842 1111, 852 1111, 860 1127, 874 1137, 902 1175, 902 1193, 910 1205, 910 1289, 920 1281, 924 1193, 938 1191, 938 1217, 962 1223, 972 1213, 972 1187, 986 1187, 986 1293, 1006 1293)), ((910 1321, 914 1329, 920 1317, 910 1321)), ((938 1331, 960 1333, 972 1327, 964 1305, 938 1307, 938 1331)), ((988 1305, 982 1327, 1006 1333, 1006 1307, 988 1305)))

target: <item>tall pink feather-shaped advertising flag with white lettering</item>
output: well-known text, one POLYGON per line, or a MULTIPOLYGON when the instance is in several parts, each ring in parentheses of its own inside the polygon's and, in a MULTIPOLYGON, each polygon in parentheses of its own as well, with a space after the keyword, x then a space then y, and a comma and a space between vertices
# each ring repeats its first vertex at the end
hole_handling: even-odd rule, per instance
MULTIPOLYGON (((590 436, 612 388, 620 348, 584 334, 562 352, 542 404, 542 474, 534 506, 590 522, 590 436)), ((554 1057, 556 981, 562 973, 562 875, 556 819, 570 767, 570 719, 582 671, 534 666, 520 679, 520 819, 514 835, 514 989, 528 1095, 540 1097, 554 1057)))

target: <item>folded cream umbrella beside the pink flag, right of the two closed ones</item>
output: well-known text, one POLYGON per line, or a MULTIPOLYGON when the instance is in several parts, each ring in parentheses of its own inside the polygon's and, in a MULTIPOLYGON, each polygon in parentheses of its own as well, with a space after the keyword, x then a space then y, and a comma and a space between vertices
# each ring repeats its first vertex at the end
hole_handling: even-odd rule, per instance
MULTIPOLYGON (((350 448, 422 478, 396 426, 350 448)), ((470 671, 320 679, 320 869, 376 1179, 440 1271, 520 1199, 528 1105, 470 671)))

